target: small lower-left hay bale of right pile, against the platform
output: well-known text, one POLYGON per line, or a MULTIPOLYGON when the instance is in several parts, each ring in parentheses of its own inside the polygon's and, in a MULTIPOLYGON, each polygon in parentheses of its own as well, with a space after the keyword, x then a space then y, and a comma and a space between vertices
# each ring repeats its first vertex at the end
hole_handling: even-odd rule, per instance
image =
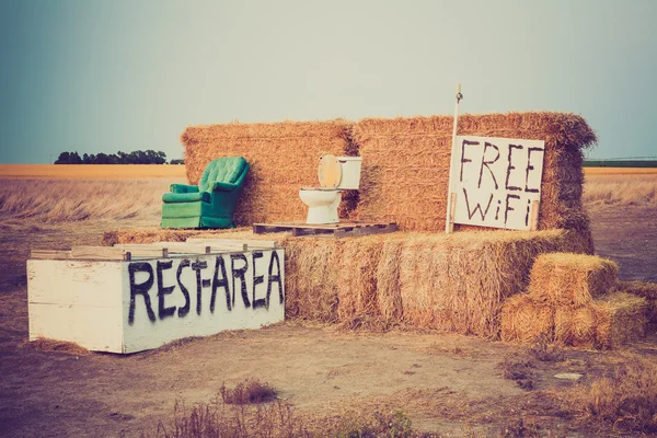
POLYGON ((534 302, 526 293, 507 298, 502 308, 502 341, 551 342, 554 308, 534 302))

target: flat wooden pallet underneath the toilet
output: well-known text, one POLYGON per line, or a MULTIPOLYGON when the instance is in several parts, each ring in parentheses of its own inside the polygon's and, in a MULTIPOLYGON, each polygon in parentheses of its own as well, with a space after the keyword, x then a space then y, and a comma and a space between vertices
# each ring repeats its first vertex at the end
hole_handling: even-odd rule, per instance
POLYGON ((331 238, 349 238, 367 234, 389 233, 396 231, 394 222, 345 221, 339 223, 311 224, 306 222, 254 223, 253 233, 291 231, 292 235, 322 235, 331 238))

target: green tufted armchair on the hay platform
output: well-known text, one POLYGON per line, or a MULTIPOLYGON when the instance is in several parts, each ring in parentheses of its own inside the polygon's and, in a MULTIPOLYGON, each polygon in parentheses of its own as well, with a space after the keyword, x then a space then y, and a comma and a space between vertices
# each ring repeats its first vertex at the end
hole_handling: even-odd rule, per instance
POLYGON ((162 228, 234 228, 233 214, 249 172, 242 157, 219 158, 198 185, 172 184, 162 195, 162 228))

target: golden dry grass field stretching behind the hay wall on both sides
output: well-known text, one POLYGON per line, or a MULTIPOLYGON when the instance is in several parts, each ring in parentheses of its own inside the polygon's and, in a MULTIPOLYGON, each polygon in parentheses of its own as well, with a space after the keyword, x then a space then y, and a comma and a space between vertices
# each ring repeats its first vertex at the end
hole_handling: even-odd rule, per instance
MULTIPOLYGON (((587 207, 657 205, 655 169, 587 168, 585 173, 587 207)), ((2 217, 43 222, 132 218, 153 224, 162 194, 170 184, 186 182, 184 165, 157 164, 0 164, 0 180, 2 217)))

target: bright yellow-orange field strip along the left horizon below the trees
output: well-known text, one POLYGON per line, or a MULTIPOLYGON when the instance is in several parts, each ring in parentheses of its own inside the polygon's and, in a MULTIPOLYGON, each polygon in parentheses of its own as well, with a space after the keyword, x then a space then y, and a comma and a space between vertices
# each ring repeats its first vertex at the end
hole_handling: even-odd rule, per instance
POLYGON ((0 164, 0 178, 178 178, 178 164, 0 164))

